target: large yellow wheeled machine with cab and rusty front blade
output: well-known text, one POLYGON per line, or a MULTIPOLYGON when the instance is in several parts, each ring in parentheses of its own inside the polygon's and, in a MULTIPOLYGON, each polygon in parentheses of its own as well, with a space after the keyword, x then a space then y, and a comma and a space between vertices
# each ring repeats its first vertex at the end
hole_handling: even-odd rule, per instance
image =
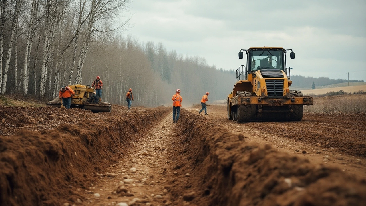
POLYGON ((236 83, 227 98, 228 118, 236 122, 301 121, 303 105, 312 105, 313 98, 289 89, 290 68, 286 53, 295 59, 292 49, 251 47, 241 49, 239 59, 246 65, 236 70, 236 83))

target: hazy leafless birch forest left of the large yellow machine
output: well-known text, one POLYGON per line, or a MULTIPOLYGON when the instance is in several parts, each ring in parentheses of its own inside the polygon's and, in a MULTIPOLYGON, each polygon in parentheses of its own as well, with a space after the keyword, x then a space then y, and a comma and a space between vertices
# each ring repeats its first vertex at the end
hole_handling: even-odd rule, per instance
POLYGON ((103 101, 123 104, 132 88, 136 105, 183 104, 225 99, 235 72, 209 66, 204 58, 167 51, 120 35, 131 17, 130 0, 2 0, 0 92, 49 100, 61 85, 91 85, 97 75, 103 101), (119 21, 117 19, 125 19, 119 21))

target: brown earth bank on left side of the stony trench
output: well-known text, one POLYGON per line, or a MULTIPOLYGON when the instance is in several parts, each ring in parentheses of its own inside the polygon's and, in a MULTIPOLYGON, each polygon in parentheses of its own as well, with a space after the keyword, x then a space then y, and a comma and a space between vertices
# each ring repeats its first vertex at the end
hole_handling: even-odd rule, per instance
MULTIPOLYGON (((10 112, 6 118, 12 118, 14 108, 0 109, 2 115, 6 110, 10 112)), ((72 116, 73 110, 78 109, 32 108, 28 116, 43 118, 56 111, 72 116)), ((98 172, 103 172, 128 150, 136 133, 143 132, 169 111, 160 107, 119 115, 105 113, 104 119, 61 124, 42 133, 20 129, 12 137, 0 136, 1 205, 60 205, 60 199, 65 197, 71 202, 77 198, 84 201, 75 188, 87 189, 86 185, 95 182, 98 172)), ((24 117, 19 115, 20 118, 24 117)), ((7 122, 16 126, 24 124, 23 121, 7 122)))

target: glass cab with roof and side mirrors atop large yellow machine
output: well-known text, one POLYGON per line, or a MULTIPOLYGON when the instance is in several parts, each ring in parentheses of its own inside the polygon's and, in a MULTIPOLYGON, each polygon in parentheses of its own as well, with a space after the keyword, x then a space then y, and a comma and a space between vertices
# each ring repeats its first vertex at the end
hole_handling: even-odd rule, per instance
POLYGON ((290 58, 295 59, 295 53, 292 49, 285 50, 280 47, 253 47, 247 50, 242 49, 239 52, 239 59, 244 58, 246 51, 247 55, 247 71, 248 73, 261 69, 280 69, 285 71, 286 68, 286 51, 291 50, 290 58))

